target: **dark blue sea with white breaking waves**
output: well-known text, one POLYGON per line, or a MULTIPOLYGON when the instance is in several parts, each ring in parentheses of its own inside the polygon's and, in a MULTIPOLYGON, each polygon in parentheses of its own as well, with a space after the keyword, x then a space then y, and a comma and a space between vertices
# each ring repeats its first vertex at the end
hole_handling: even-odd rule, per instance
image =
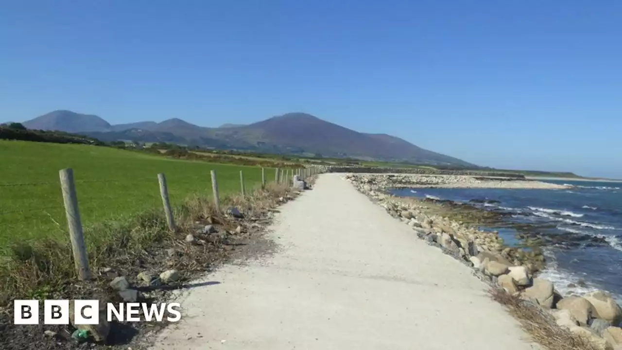
POLYGON ((414 196, 470 204, 503 214, 498 230, 508 245, 521 246, 528 225, 546 238, 547 267, 540 277, 562 296, 609 291, 622 301, 622 182, 556 181, 569 189, 394 189, 414 196), (518 227, 518 229, 517 229, 518 227))

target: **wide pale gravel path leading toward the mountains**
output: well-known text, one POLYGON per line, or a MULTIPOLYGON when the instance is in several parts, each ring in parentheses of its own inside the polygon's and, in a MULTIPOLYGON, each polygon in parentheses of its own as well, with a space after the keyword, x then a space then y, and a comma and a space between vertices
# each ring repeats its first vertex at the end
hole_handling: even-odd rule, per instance
POLYGON ((209 275, 152 349, 532 349, 469 268, 340 174, 281 210, 279 252, 209 275))

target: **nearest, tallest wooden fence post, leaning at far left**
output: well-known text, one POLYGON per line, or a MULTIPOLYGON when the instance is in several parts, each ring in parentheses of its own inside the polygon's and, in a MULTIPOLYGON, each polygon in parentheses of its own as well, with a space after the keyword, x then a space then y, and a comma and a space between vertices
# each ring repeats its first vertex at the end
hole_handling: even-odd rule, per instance
POLYGON ((65 214, 67 214, 69 237, 72 241, 73 262, 78 277, 85 281, 91 278, 91 272, 88 269, 88 255, 86 255, 84 232, 82 231, 80 210, 78 209, 78 196, 73 182, 73 169, 62 169, 58 174, 60 176, 60 188, 63 192, 65 214))

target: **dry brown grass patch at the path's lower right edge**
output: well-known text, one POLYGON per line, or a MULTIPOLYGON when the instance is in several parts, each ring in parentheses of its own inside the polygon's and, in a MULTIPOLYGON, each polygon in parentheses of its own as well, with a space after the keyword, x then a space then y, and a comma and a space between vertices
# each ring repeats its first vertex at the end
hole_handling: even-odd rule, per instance
POLYGON ((509 313, 518 319, 536 343, 549 350, 601 350, 588 339, 582 338, 568 329, 561 328, 546 311, 536 305, 521 300, 500 288, 492 287, 489 294, 493 300, 506 306, 509 313))

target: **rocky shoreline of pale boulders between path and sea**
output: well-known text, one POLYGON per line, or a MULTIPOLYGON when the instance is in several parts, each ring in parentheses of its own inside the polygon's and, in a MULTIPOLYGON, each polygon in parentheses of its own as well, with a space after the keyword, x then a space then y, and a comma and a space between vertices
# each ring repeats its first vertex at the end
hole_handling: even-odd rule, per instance
MULTIPOLYGON (((462 179, 462 177, 456 179, 456 176, 444 176, 443 181, 438 178, 439 176, 434 177, 435 179, 422 179, 416 175, 348 174, 345 179, 350 181, 358 191, 384 207, 390 215, 411 226, 420 239, 441 248, 444 253, 471 267, 473 274, 490 286, 503 288, 508 296, 521 301, 521 307, 538 311, 530 315, 542 315, 538 316, 537 320, 528 320, 529 322, 545 324, 545 328, 554 329, 562 335, 564 332, 567 333, 567 337, 555 337, 561 339, 561 342, 575 339, 578 342, 587 341, 590 344, 590 348, 581 346, 577 348, 576 342, 572 343, 573 347, 560 343, 556 346, 557 348, 622 349, 622 329, 620 328, 622 308, 606 291, 593 291, 583 296, 562 296, 555 290, 553 283, 537 277, 538 272, 545 265, 542 250, 507 247, 503 244, 503 239, 499 237, 498 232, 481 231, 466 225, 465 222, 431 214, 430 204, 425 201, 394 197, 384 192, 394 187, 478 187, 486 184, 492 186, 493 182, 498 182, 498 184, 492 187, 503 187, 503 184, 514 182, 495 179, 462 179), (450 181, 457 182, 451 186, 450 181), (455 186, 456 183, 458 186, 455 186)), ((559 188, 545 187, 545 185, 552 185, 545 184, 545 182, 536 181, 535 183, 531 182, 531 186, 542 187, 504 188, 559 188)), ((538 337, 534 336, 534 338, 538 337)), ((547 341, 546 339, 551 337, 539 339, 542 338, 547 341)), ((550 347, 550 343, 548 345, 550 347)))

